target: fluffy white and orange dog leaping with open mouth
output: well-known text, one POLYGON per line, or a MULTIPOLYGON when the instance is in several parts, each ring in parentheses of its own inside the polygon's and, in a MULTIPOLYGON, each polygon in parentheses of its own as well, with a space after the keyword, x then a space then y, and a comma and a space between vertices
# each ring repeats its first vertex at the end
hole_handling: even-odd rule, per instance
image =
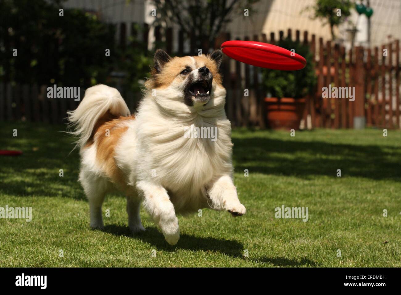
POLYGON ((245 214, 233 184, 222 58, 219 50, 174 58, 158 50, 136 114, 130 115, 119 92, 106 85, 87 89, 69 112, 91 227, 103 227, 101 206, 112 189, 126 195, 132 232, 144 230, 142 202, 171 245, 180 238, 178 213, 211 208, 245 214))

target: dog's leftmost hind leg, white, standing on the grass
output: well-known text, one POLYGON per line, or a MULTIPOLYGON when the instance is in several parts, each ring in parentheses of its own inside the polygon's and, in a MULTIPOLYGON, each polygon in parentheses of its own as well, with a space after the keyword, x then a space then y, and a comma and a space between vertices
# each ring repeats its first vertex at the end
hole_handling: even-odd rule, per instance
POLYGON ((97 177, 90 172, 81 171, 79 173, 79 181, 81 181, 85 195, 89 201, 91 228, 103 228, 101 206, 108 188, 107 180, 103 179, 103 177, 97 177))

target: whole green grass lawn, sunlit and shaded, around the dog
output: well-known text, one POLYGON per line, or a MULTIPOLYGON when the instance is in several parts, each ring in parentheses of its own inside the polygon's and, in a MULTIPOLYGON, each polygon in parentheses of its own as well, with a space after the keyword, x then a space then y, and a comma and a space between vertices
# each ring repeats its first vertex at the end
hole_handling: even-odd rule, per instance
POLYGON ((291 137, 234 130, 235 185, 247 214, 205 209, 202 217, 180 216, 181 238, 169 246, 143 210, 146 232, 130 234, 118 194, 103 205, 110 210, 105 229, 89 228, 79 157, 69 155, 72 139, 58 131, 64 126, 0 125, 0 149, 24 151, 0 156, 0 207, 32 207, 33 215, 31 222, 0 219, 0 267, 401 267, 399 131, 291 137), (308 207, 308 222, 276 219, 283 204, 308 207))

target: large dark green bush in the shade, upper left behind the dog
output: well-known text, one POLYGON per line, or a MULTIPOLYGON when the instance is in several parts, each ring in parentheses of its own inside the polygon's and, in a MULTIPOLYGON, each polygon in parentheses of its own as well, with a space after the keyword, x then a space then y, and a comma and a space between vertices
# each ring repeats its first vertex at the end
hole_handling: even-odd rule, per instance
POLYGON ((146 44, 115 44, 115 26, 59 0, 0 0, 0 82, 139 90, 152 62, 146 44), (13 56, 13 49, 18 55, 13 56), (110 56, 105 50, 110 50, 110 56), (111 72, 124 73, 120 83, 111 72))

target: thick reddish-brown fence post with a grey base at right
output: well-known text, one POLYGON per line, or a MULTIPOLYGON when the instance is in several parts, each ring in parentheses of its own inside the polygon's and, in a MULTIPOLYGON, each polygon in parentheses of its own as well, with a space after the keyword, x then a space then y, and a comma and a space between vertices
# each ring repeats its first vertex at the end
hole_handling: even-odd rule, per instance
POLYGON ((363 129, 366 126, 365 118, 365 67, 363 66, 363 47, 355 48, 355 112, 354 129, 363 129))

